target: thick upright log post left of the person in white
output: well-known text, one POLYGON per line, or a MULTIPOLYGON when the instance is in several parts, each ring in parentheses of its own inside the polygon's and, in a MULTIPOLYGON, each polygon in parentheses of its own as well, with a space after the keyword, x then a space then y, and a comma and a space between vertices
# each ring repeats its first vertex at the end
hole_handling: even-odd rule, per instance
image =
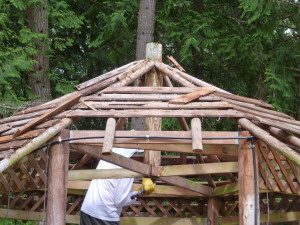
MULTIPOLYGON (((59 141, 69 138, 69 131, 62 130, 53 138, 59 141)), ((69 166, 69 143, 51 146, 48 169, 47 224, 65 225, 67 206, 67 182, 69 166)))

